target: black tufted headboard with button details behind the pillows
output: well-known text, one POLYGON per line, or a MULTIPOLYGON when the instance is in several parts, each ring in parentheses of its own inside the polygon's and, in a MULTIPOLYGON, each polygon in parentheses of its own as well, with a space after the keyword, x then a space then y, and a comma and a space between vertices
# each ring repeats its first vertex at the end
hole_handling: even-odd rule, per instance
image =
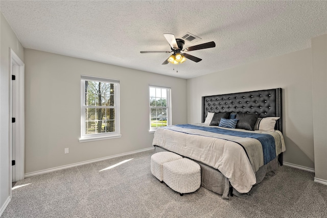
POLYGON ((202 123, 208 112, 259 113, 260 117, 281 117, 275 129, 283 132, 282 88, 203 96, 202 123))

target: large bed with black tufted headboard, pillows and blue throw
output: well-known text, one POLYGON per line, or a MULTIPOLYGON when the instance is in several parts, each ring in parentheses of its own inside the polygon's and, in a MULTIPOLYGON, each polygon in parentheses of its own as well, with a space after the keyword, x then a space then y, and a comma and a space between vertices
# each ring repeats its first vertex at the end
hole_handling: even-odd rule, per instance
POLYGON ((155 152, 170 151, 201 166, 201 186, 223 199, 248 195, 283 165, 282 89, 202 97, 202 123, 158 128, 155 152))

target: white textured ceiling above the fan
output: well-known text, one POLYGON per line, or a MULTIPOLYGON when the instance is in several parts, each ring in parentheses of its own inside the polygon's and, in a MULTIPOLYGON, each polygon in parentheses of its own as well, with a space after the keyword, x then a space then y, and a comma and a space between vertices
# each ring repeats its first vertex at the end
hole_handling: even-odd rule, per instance
POLYGON ((327 1, 0 1, 27 49, 157 74, 193 78, 311 47, 327 33, 327 1), (164 33, 201 38, 184 47, 203 59, 161 65, 170 54, 164 33), (178 67, 178 72, 176 69, 178 67), (175 68, 175 70, 173 70, 175 68))

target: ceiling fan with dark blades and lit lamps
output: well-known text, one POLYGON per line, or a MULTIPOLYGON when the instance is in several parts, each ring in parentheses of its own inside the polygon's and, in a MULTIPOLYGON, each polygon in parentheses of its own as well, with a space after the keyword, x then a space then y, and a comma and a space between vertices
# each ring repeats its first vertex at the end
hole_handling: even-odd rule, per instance
POLYGON ((171 51, 144 51, 141 53, 171 53, 171 52, 173 52, 174 54, 169 56, 169 58, 167 58, 167 60, 164 61, 164 63, 162 63, 162 64, 168 64, 168 63, 180 64, 180 63, 183 63, 186 60, 186 58, 190 59, 194 62, 199 62, 202 60, 200 58, 186 54, 185 52, 190 52, 190 51, 200 50, 200 49, 209 49, 210 47, 216 46, 216 43, 214 41, 212 41, 212 42, 206 42, 203 44, 194 45, 191 47, 186 47, 183 49, 183 46, 185 43, 184 40, 176 39, 174 34, 170 34, 170 33, 165 33, 164 36, 167 39, 168 43, 170 44, 171 51))

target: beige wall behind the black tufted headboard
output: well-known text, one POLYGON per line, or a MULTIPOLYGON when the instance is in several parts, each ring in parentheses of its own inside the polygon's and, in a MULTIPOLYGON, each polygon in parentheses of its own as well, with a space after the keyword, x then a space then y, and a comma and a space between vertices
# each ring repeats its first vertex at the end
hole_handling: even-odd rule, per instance
POLYGON ((311 49, 188 80, 188 123, 201 122, 201 96, 283 88, 284 161, 314 168, 311 49))

